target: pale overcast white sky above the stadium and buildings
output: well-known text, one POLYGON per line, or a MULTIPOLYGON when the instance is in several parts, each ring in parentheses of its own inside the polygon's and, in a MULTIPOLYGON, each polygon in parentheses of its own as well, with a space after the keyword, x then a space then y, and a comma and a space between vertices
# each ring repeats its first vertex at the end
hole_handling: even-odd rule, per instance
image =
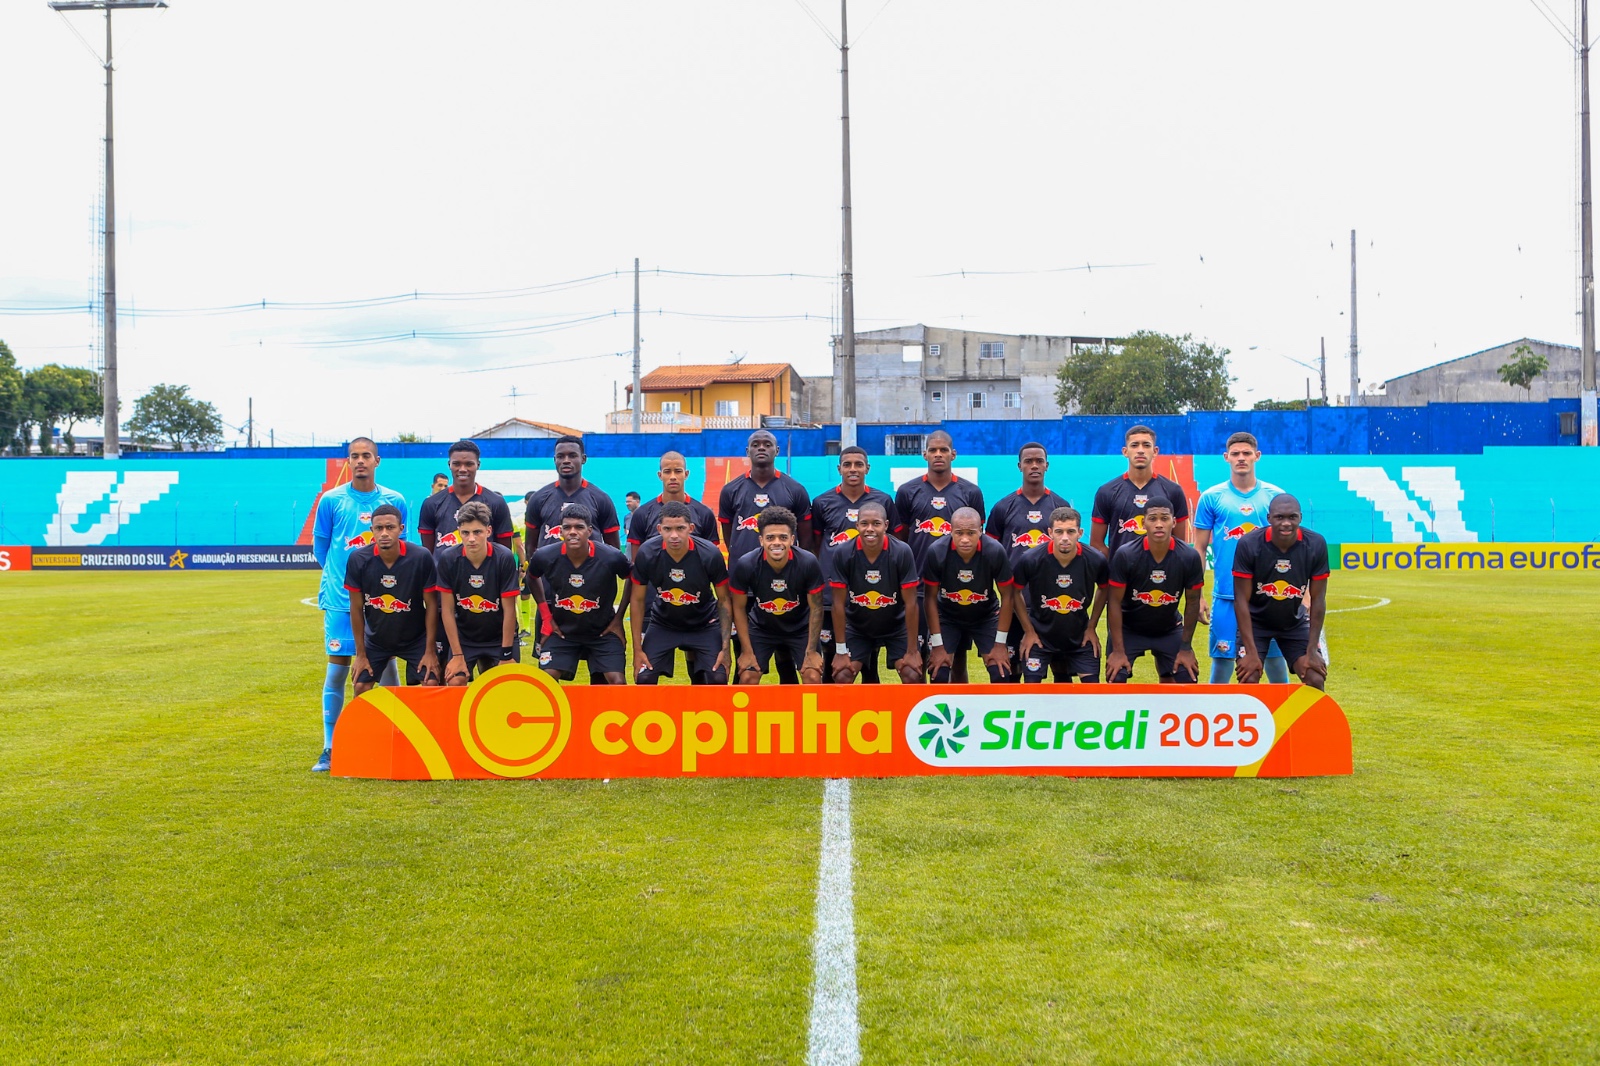
MULTIPOLYGON (((837 34, 826 0, 118 14, 125 416, 170 381, 235 426, 254 397, 278 443, 600 429, 634 256, 826 275, 646 274, 646 370, 827 373, 838 53, 802 2, 837 34), (501 290, 541 291, 144 317, 501 290), (480 335, 373 341, 413 330, 480 335), (544 365, 483 371, 518 363, 544 365)), ((0 307, 93 290, 104 99, 74 29, 104 48, 99 16, 0 6, 0 307)), ((1363 379, 1576 339, 1571 48, 1533 0, 853 0, 851 35, 862 330, 1194 333, 1243 407, 1302 395, 1285 355, 1325 336, 1344 392, 1354 227, 1363 379), (963 269, 1030 274, 930 277, 963 269)), ((88 365, 94 333, 0 314, 24 367, 88 365)))

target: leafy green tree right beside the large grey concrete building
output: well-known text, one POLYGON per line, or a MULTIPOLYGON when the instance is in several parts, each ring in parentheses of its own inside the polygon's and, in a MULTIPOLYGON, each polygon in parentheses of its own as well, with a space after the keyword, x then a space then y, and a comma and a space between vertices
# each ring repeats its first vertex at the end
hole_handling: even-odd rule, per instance
POLYGON ((1234 407, 1227 349, 1141 330, 1075 349, 1058 371, 1056 403, 1080 415, 1182 415, 1234 407))

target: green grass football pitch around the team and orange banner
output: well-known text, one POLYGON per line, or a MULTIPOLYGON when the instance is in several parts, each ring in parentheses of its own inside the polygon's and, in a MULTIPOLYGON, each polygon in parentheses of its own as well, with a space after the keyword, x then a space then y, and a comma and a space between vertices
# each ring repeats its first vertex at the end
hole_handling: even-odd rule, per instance
MULTIPOLYGON (((0 1061, 805 1058, 821 783, 310 775, 312 587, 0 578, 0 1061)), ((1597 592, 1334 575, 1350 778, 856 781, 862 1061, 1600 1060, 1597 592)))

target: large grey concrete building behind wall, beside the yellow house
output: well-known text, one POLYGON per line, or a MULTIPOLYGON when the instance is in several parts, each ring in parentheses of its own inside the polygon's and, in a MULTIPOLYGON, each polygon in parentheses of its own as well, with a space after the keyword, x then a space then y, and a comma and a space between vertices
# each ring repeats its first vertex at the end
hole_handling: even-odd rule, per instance
MULTIPOLYGON (((856 419, 939 423, 955 419, 1061 418, 1056 371, 1077 346, 1098 336, 976 333, 909 325, 856 333, 856 419)), ((811 379, 802 418, 837 423, 840 339, 834 376, 811 379)))

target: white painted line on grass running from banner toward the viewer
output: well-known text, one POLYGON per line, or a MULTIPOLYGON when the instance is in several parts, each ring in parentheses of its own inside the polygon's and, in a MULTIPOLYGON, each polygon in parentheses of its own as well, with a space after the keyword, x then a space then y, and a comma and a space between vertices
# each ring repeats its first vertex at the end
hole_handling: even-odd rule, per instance
POLYGON ((826 781, 822 856, 816 877, 816 936, 811 941, 808 1066, 856 1066, 861 1061, 851 863, 850 781, 826 781))

